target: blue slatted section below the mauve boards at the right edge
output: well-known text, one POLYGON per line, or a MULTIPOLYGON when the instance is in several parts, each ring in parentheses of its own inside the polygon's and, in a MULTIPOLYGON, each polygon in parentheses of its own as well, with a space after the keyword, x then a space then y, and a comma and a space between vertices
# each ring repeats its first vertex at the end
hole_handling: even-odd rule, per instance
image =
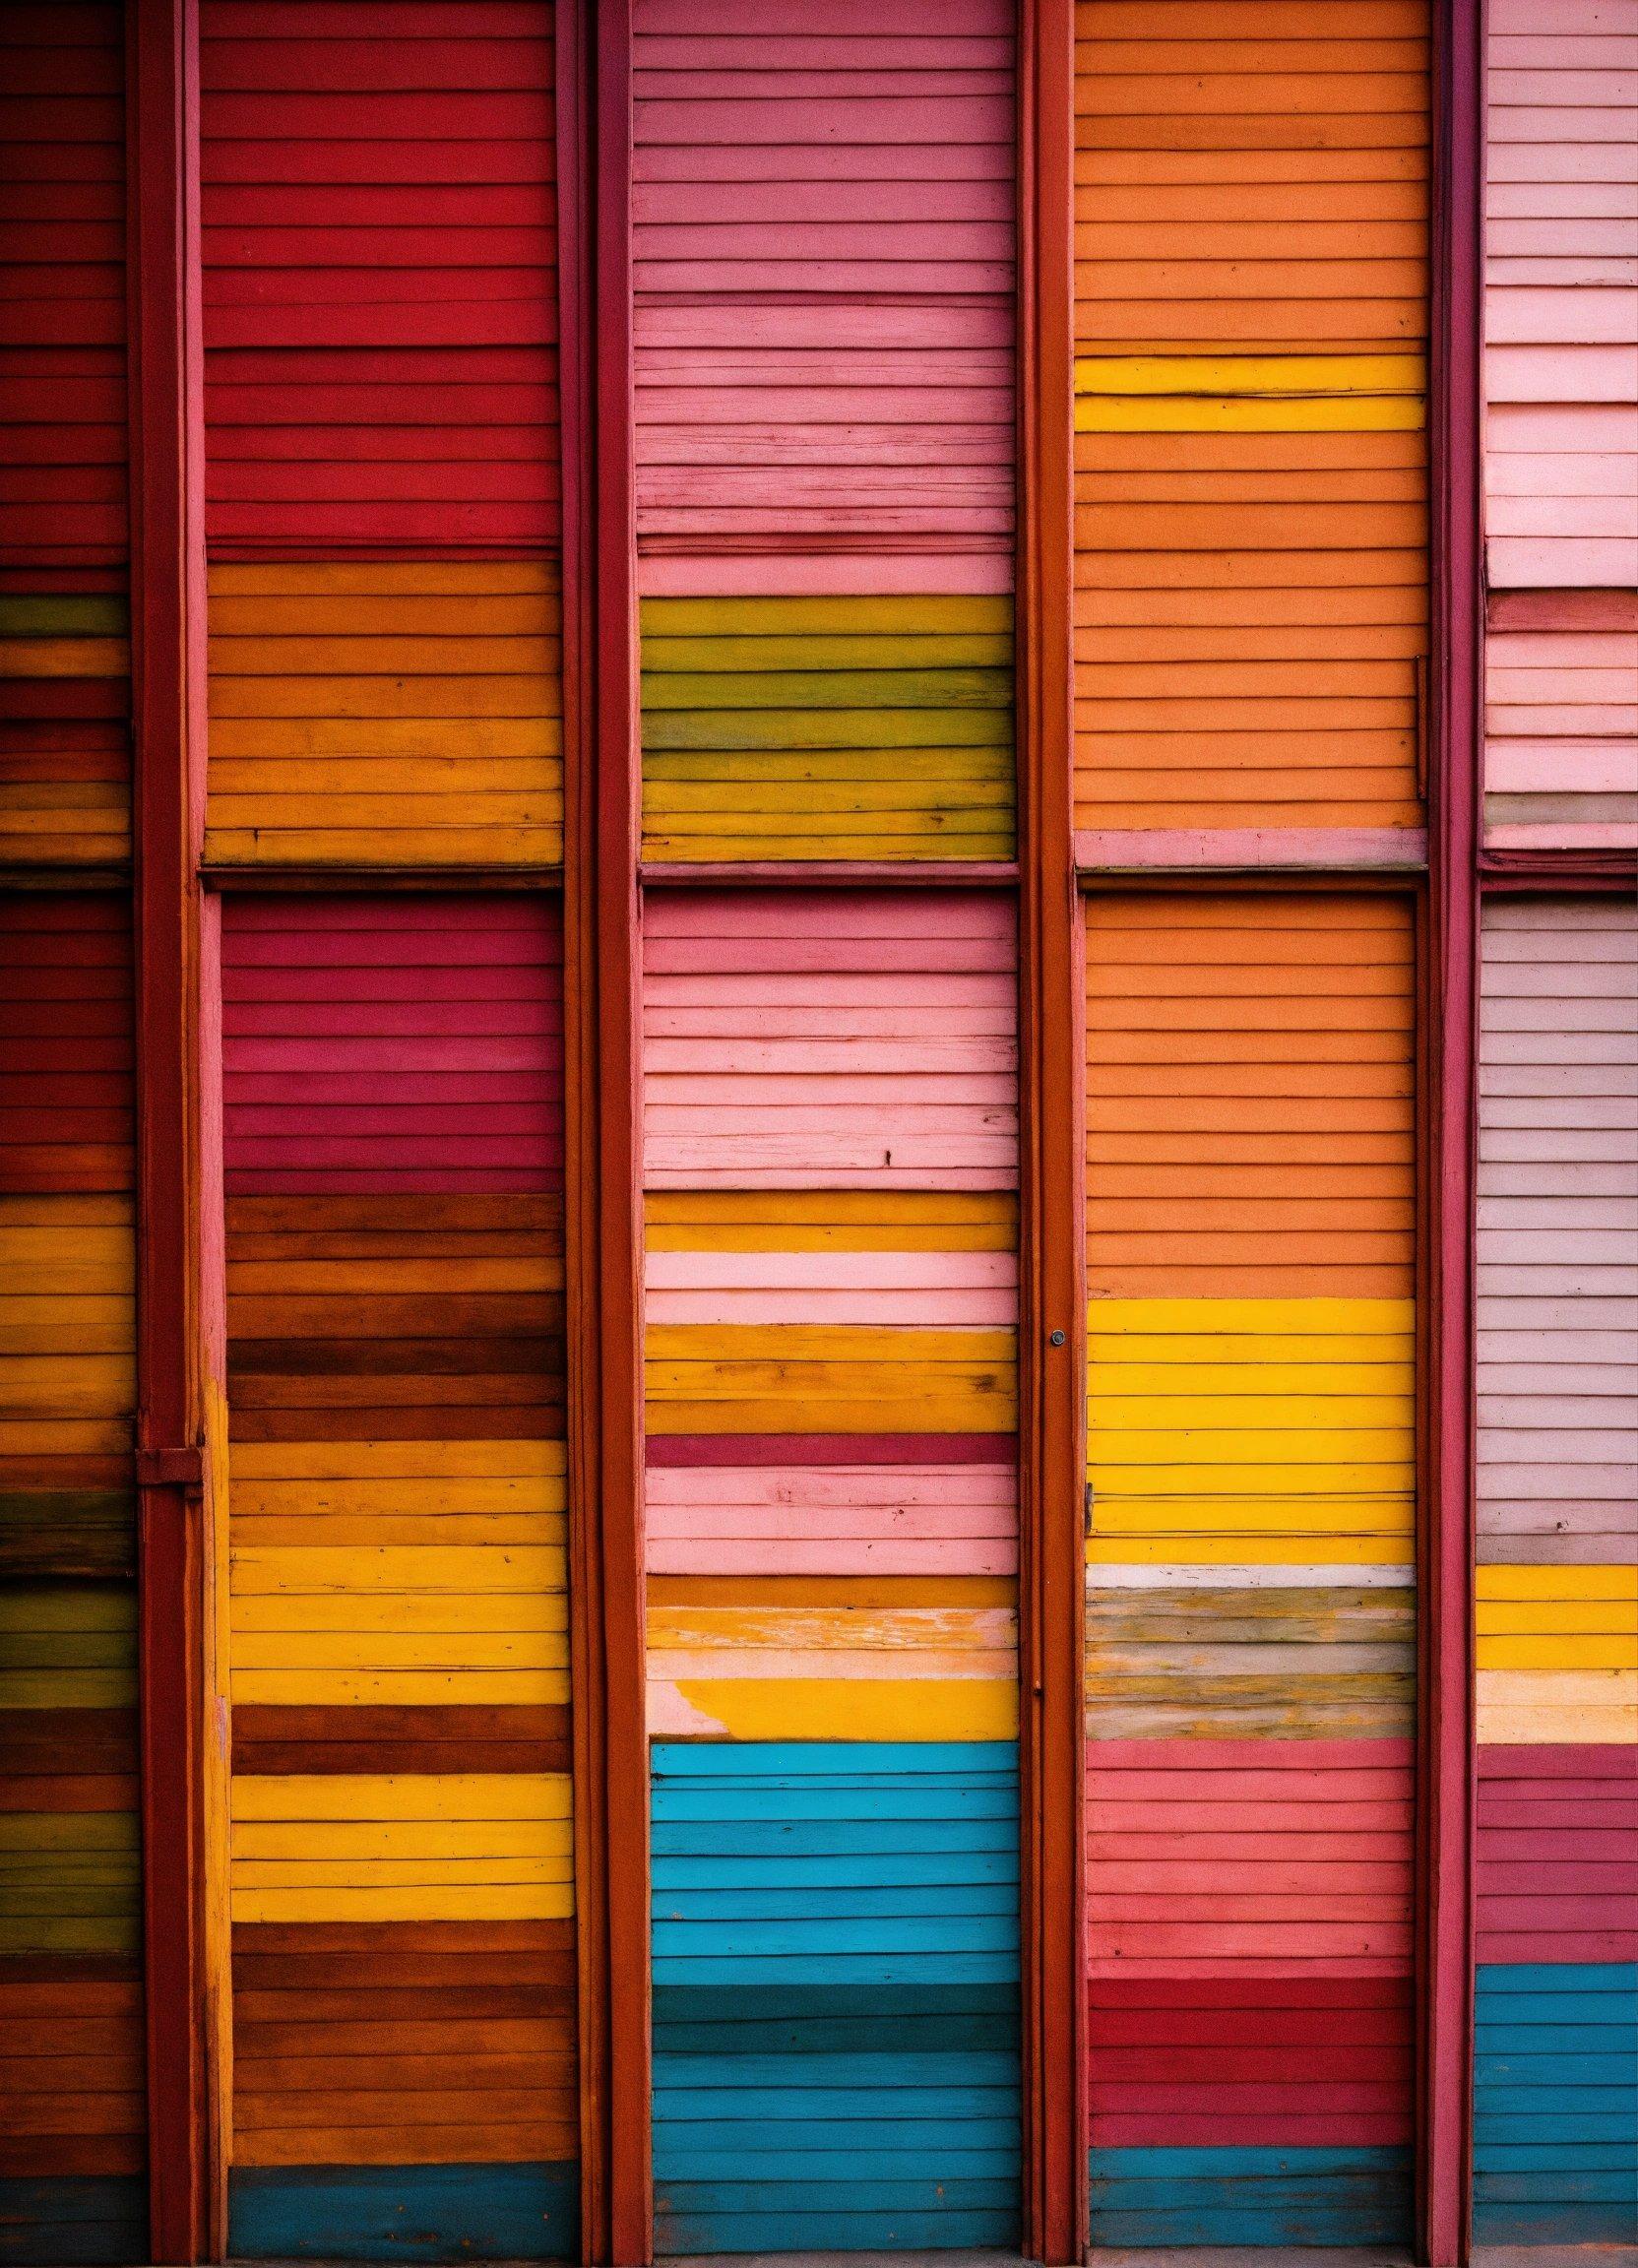
POLYGON ((1475 2055, 1479 2243, 1638 2243, 1638 1962, 1484 1964, 1475 2055))

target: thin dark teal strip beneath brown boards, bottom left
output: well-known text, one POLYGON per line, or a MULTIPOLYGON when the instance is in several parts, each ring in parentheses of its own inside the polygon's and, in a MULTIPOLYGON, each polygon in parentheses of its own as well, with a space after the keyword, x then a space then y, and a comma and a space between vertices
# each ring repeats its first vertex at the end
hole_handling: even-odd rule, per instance
POLYGON ((581 2248, 579 2166, 238 2166, 229 2259, 542 2261, 581 2248))

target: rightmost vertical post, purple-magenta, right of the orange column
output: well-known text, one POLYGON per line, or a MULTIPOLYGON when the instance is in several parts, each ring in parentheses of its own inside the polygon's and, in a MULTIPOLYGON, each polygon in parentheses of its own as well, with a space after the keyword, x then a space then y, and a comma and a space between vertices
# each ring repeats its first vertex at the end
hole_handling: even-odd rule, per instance
POLYGON ((1418 2245, 1468 2257, 1472 2189, 1472 1209, 1479 943, 1484 7, 1434 9, 1432 764, 1425 934, 1418 2245))

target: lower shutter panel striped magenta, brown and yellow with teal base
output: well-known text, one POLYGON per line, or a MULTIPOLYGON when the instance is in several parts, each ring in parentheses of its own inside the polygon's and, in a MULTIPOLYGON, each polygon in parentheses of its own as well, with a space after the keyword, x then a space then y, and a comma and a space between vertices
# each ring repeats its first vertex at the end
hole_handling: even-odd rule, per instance
POLYGON ((558 914, 222 959, 231 2250, 574 2252, 558 914))

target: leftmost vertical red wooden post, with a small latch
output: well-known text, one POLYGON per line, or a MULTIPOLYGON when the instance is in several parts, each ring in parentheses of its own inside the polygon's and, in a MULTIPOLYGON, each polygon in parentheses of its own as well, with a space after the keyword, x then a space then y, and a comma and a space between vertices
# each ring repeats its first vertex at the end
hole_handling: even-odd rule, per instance
POLYGON ((136 1483, 150 2241, 213 2241, 209 1447, 220 1313, 202 1232, 204 417, 197 23, 127 5, 136 853, 136 1483))

